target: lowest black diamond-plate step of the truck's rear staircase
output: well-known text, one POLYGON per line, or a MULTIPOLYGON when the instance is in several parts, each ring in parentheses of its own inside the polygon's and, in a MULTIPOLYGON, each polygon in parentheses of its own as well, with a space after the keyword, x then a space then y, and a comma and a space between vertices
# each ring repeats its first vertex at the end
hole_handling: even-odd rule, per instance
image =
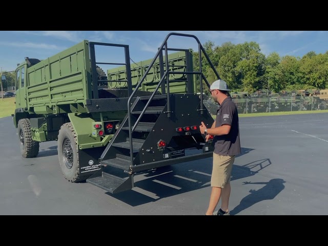
POLYGON ((131 176, 128 179, 124 179, 106 172, 102 172, 102 176, 90 177, 86 181, 112 194, 128 191, 133 188, 131 176))

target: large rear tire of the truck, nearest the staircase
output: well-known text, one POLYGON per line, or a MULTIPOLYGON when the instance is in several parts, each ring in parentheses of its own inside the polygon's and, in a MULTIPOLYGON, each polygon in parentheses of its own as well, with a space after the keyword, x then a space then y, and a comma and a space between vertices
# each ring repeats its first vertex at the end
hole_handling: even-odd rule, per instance
POLYGON ((64 177, 70 182, 83 180, 79 177, 80 167, 76 139, 76 133, 71 123, 60 127, 57 140, 59 165, 64 177))

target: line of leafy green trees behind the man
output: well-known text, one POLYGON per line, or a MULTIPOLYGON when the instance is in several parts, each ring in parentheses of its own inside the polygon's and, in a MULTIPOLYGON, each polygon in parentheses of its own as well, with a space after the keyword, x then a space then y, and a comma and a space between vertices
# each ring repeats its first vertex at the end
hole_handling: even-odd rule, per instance
MULTIPOLYGON (((227 42, 222 46, 215 46, 209 41, 203 48, 220 78, 226 81, 233 91, 253 93, 269 88, 269 91, 279 92, 322 90, 327 87, 328 51, 324 54, 310 51, 303 57, 280 57, 277 52, 273 52, 265 57, 256 42, 237 45, 227 42)), ((202 72, 211 84, 217 77, 207 59, 201 55, 202 72)), ((194 52, 194 64, 199 71, 198 57, 198 52, 194 52)), ((203 88, 204 92, 209 91, 204 81, 203 88)))

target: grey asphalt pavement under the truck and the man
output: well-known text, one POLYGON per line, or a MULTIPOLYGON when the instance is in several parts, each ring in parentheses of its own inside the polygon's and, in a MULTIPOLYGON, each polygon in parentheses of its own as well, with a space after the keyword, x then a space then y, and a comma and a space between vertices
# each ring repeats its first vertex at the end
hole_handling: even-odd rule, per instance
MULTIPOLYGON (((328 113, 240 118, 232 215, 327 215, 328 113)), ((212 158, 142 172, 131 191, 70 183, 56 141, 25 159, 12 117, 0 118, 0 215, 204 215, 212 158)), ((218 205, 219 208, 220 204, 218 205)))

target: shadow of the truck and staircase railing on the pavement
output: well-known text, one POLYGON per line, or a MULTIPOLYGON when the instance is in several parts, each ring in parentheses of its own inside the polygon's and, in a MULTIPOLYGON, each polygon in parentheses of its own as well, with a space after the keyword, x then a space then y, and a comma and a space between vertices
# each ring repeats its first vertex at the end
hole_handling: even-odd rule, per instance
MULTIPOLYGON (((180 163, 167 167, 149 170, 139 176, 135 187, 130 191, 108 195, 115 197, 130 206, 153 202, 165 197, 174 196, 211 186, 212 158, 201 160, 201 165, 195 161, 180 163)), ((250 177, 263 169, 263 163, 271 163, 269 159, 248 163, 244 167, 233 166, 231 180, 250 177), (248 167, 250 166, 250 167, 248 167), (252 169, 257 168, 257 171, 252 169)), ((266 167, 266 166, 265 166, 266 167)))

